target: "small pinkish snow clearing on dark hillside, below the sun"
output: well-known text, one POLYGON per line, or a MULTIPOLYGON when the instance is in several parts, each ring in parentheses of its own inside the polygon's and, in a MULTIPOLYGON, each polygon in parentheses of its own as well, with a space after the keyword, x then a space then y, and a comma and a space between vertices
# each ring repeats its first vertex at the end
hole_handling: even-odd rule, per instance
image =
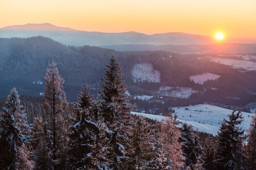
POLYGON ((208 80, 217 80, 218 78, 220 78, 220 75, 212 73, 197 74, 189 77, 190 80, 193 80, 193 82, 196 84, 201 85, 203 85, 204 82, 207 82, 208 80))

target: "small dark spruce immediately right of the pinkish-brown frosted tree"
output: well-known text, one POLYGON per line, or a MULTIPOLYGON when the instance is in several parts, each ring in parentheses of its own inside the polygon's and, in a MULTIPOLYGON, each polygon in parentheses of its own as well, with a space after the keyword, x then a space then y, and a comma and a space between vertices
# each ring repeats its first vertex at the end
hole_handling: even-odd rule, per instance
POLYGON ((185 156, 185 167, 203 169, 203 147, 200 145, 199 137, 193 131, 192 126, 183 124, 180 139, 184 143, 182 150, 185 156))

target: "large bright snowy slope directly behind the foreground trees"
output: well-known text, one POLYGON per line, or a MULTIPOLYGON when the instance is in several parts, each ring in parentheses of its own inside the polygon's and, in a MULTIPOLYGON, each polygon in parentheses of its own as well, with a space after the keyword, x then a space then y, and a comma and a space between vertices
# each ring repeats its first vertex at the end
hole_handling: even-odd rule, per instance
MULTIPOLYGON (((173 109, 175 109, 175 113, 177 114, 177 119, 179 121, 187 122, 187 124, 192 125, 195 130, 213 135, 217 134, 223 118, 228 119, 228 115, 232 113, 232 110, 230 109, 225 109, 209 104, 199 104, 188 107, 175 107, 173 109), (188 110, 185 108, 188 108, 188 110)), ((166 119, 164 116, 154 114, 137 112, 131 112, 131 114, 142 115, 157 121, 166 119)), ((244 117, 244 120, 241 124, 241 128, 246 130, 250 126, 250 119, 253 114, 242 112, 242 116, 244 117)))

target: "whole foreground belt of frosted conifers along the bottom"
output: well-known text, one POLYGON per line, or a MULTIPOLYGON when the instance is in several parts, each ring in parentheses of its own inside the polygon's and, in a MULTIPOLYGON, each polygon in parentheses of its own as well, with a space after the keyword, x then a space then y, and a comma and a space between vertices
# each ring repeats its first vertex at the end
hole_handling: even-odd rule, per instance
POLYGON ((216 137, 202 140, 171 113, 162 122, 130 114, 136 105, 122 78, 113 56, 98 95, 84 82, 77 102, 69 103, 51 63, 34 109, 14 87, 1 109, 0 169, 255 169, 255 115, 245 133, 241 112, 230 113, 216 137))

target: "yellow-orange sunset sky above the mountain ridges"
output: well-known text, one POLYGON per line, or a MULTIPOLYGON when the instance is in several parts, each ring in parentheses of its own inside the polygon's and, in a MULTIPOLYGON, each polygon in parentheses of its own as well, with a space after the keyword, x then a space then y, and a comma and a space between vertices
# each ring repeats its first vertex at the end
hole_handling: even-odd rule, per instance
POLYGON ((0 27, 51 23, 84 31, 187 32, 256 39, 256 0, 0 0, 0 27))

